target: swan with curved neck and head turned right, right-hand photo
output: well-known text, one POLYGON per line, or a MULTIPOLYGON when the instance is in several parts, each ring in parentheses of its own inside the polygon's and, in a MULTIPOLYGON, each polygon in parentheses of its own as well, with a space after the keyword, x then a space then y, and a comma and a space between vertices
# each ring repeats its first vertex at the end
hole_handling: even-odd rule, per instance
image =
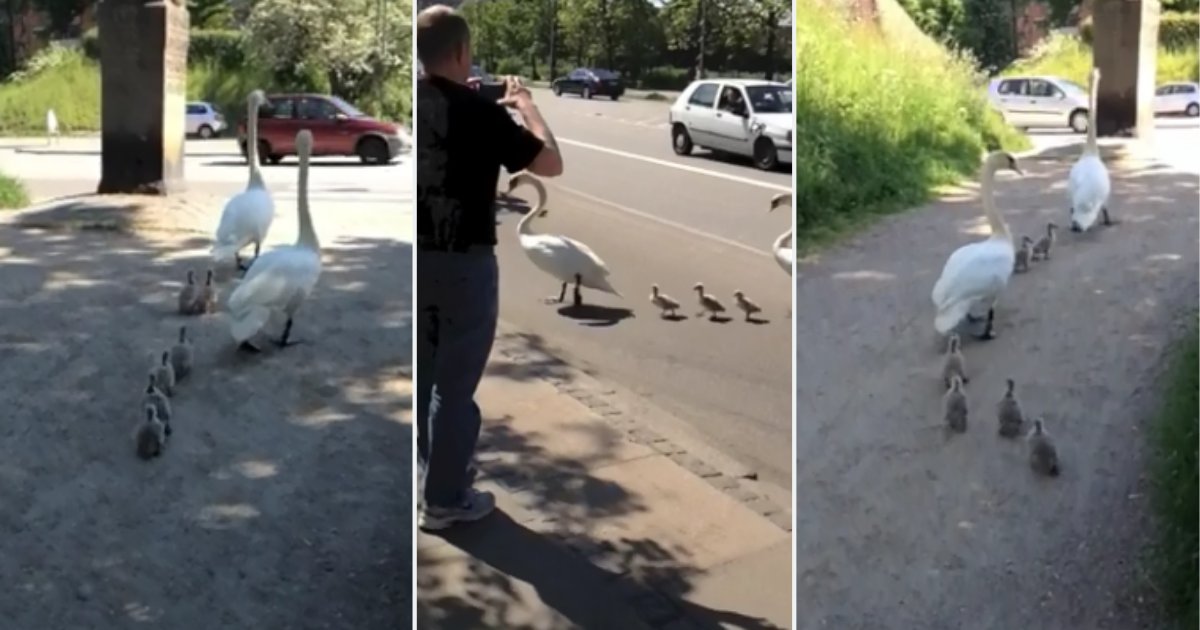
POLYGON ((1010 168, 1024 175, 1016 166, 1016 158, 1004 151, 995 151, 983 164, 983 210, 991 227, 986 240, 964 245, 954 251, 942 268, 942 276, 934 284, 931 298, 937 307, 934 328, 941 335, 947 335, 962 319, 973 320, 972 307, 988 305, 988 325, 980 338, 992 338, 992 322, 996 317, 996 300, 1013 277, 1013 265, 1016 251, 1013 247, 1013 234, 1008 230, 1004 218, 996 210, 992 198, 996 170, 1010 168))

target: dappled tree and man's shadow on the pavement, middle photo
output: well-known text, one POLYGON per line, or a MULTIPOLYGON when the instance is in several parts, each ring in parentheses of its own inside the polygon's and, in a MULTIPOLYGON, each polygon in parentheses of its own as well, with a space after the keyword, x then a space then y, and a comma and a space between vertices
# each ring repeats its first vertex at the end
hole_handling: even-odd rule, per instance
MULTIPOLYGON (((517 355, 534 359, 493 355, 490 376, 571 388, 575 370, 545 354, 538 335, 504 335, 497 346, 520 348, 517 355)), ((539 436, 511 430, 508 420, 485 418, 478 452, 481 480, 502 487, 514 503, 502 503, 503 512, 486 521, 443 534, 469 556, 464 565, 449 569, 442 566, 451 562, 443 554, 419 551, 419 565, 426 569, 418 570, 420 628, 659 628, 682 619, 697 629, 776 628, 685 601, 700 572, 688 550, 613 529, 620 527, 616 520, 650 509, 622 484, 596 475, 596 468, 620 461, 624 433, 606 422, 571 427, 582 432, 575 438, 587 444, 581 450, 588 455, 564 455, 544 448, 539 436), (613 606, 614 600, 624 604, 613 606), (541 608, 552 613, 538 614, 541 608), (636 617, 629 617, 630 610, 636 617)))

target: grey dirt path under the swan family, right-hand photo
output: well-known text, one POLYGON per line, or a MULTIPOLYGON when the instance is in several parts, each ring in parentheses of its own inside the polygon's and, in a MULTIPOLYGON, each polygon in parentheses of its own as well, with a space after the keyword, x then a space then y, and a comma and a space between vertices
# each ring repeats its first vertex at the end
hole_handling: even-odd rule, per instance
MULTIPOLYGON (((1016 234, 1067 226, 1064 160, 1002 176, 1016 234)), ((998 338, 968 340, 970 430, 938 426, 930 289, 986 227, 973 194, 882 222, 802 264, 797 324, 799 629, 1162 628, 1145 617, 1142 428, 1160 358, 1194 313, 1198 176, 1114 166, 1114 216, 1063 232, 1009 286, 998 338), (1057 438, 1033 476, 996 434, 1004 379, 1057 438)))

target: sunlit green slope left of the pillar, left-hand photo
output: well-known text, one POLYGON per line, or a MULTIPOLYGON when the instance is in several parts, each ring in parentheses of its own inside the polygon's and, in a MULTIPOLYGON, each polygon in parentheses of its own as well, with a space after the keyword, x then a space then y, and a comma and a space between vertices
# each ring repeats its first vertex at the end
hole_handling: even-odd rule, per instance
POLYGON ((46 133, 47 109, 54 109, 60 133, 100 128, 100 65, 60 50, 53 65, 0 84, 0 134, 46 133))

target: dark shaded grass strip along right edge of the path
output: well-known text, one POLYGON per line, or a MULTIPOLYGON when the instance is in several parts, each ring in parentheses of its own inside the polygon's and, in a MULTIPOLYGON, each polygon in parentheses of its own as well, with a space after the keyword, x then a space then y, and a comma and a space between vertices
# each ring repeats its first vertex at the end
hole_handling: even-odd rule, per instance
MULTIPOLYGON (((1194 324, 1193 324, 1194 325, 1194 324)), ((1198 601, 1198 415, 1200 406, 1200 335, 1181 341, 1165 379, 1163 404, 1151 427, 1150 479, 1157 517, 1153 565, 1168 614, 1180 628, 1200 626, 1198 601)))

